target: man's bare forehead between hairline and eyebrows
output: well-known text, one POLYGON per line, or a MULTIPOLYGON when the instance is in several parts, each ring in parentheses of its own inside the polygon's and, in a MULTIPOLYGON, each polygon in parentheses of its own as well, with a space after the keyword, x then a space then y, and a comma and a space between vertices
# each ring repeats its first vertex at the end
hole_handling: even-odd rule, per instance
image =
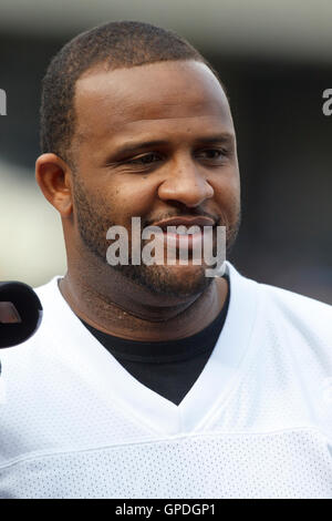
MULTIPOLYGON (((75 135, 84 141, 139 131, 211 124, 228 132, 232 120, 226 94, 207 65, 159 62, 108 71, 87 71, 75 89, 75 135)), ((98 141, 101 143, 101 141, 98 141)))

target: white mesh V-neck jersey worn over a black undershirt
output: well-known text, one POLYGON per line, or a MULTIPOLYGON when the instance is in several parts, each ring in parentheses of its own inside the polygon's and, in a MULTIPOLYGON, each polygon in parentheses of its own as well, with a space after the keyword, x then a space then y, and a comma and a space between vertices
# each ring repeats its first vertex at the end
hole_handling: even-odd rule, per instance
POLYGON ((131 376, 63 299, 0 351, 0 497, 332 498, 332 306, 227 263, 224 329, 179 406, 131 376))

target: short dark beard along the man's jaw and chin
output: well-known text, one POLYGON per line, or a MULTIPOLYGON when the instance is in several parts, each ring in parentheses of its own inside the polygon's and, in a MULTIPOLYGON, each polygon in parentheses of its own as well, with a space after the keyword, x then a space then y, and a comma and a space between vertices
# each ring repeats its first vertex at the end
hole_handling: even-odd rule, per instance
MULTIPOLYGON (((124 277, 131 279, 152 292, 153 294, 165 295, 169 297, 193 297, 205 292, 214 280, 214 277, 207 277, 206 266, 168 266, 160 264, 146 265, 141 263, 134 265, 131 263, 131 241, 128 264, 110 265, 106 259, 106 252, 110 241, 106 239, 106 233, 110 227, 118 225, 116 221, 110 217, 110 202, 103 194, 89 194, 83 183, 74 175, 73 183, 74 216, 77 223, 80 239, 84 247, 92 253, 98 262, 121 273, 124 277)), ((240 206, 236 203, 234 206, 234 219, 229 225, 227 218, 219 218, 217 225, 226 226, 226 254, 229 255, 240 227, 241 213, 240 206)), ((188 212, 187 212, 188 214, 188 212)), ((180 214, 178 214, 180 215, 180 214)), ((142 228, 145 223, 142 223, 142 228)), ((131 229, 127 229, 131 237, 131 229)), ((142 241, 142 247, 144 241, 142 241)), ((216 252, 214 251, 214 255, 216 252)), ((209 266, 211 267, 211 266, 209 266)), ((110 274, 112 275, 112 273, 110 274)))

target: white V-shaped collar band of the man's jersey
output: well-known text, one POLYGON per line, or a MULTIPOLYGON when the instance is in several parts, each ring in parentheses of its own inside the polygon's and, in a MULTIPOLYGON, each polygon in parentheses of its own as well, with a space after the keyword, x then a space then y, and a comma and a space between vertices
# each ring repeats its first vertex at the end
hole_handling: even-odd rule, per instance
POLYGON ((229 262, 226 272, 230 302, 224 328, 205 368, 178 406, 136 380, 89 331, 63 298, 58 286, 61 277, 37 293, 48 330, 55 339, 53 345, 58 346, 56 356, 80 372, 101 400, 116 402, 124 415, 155 433, 176 436, 204 430, 245 371, 258 315, 259 285, 240 275, 229 262))

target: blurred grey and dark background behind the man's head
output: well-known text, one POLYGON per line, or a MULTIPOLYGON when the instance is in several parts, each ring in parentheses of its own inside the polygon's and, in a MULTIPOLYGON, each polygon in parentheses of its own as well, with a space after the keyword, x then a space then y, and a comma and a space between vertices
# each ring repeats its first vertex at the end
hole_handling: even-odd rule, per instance
POLYGON ((105 21, 173 29, 226 84, 238 135, 246 276, 332 304, 330 0, 0 0, 0 279, 65 273, 61 221, 34 181, 41 79, 73 35, 105 21))

